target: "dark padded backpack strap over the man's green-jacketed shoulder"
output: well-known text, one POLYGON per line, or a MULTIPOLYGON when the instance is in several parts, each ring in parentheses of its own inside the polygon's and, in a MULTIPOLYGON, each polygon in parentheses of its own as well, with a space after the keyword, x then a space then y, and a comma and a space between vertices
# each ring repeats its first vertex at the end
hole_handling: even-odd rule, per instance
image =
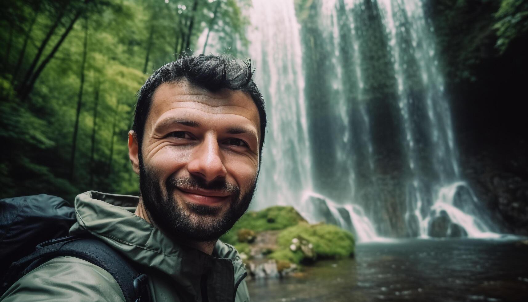
POLYGON ((118 252, 104 242, 87 237, 67 236, 43 242, 36 251, 11 264, 2 287, 7 290, 25 274, 59 256, 86 260, 106 270, 118 283, 127 302, 150 300, 148 277, 131 266, 118 252))

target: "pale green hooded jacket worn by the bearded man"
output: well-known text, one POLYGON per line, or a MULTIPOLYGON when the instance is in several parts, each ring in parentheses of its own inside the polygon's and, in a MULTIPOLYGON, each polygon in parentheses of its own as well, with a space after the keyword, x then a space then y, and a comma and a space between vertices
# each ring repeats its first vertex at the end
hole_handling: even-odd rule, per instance
MULTIPOLYGON (((70 235, 90 233, 139 264, 149 277, 152 301, 202 301, 206 277, 210 302, 247 302, 246 268, 233 246, 216 242, 213 255, 177 244, 134 214, 114 206, 138 197, 89 191, 77 196, 70 235), (110 204, 111 203, 111 204, 110 204), (236 297, 235 296, 236 291, 236 297)), ((27 273, 0 297, 11 301, 124 301, 105 270, 73 257, 57 257, 27 273)))

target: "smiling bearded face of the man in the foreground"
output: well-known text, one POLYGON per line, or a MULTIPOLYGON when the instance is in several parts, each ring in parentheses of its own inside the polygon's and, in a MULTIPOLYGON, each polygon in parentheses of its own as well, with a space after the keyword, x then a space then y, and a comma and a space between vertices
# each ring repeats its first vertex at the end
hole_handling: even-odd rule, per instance
POLYGON ((257 106, 242 91, 211 93, 185 80, 160 85, 137 164, 129 142, 150 219, 185 240, 211 241, 227 232, 253 196, 258 133, 257 106))

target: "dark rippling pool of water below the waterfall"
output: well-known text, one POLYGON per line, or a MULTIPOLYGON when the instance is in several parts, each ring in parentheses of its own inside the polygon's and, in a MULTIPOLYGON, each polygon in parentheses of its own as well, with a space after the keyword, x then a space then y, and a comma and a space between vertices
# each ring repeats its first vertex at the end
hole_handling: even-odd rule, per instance
POLYGON ((521 240, 365 243, 300 277, 248 281, 251 301, 528 301, 521 240))

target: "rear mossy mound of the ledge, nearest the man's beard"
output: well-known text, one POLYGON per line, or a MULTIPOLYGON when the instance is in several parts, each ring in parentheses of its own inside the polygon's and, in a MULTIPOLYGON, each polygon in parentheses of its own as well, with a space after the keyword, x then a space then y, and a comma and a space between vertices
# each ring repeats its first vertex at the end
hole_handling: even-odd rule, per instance
POLYGON ((239 242, 239 231, 244 228, 258 233, 262 231, 284 230, 299 222, 305 222, 305 219, 293 207, 272 206, 261 211, 251 211, 242 215, 231 230, 220 237, 220 240, 235 245, 239 242))

